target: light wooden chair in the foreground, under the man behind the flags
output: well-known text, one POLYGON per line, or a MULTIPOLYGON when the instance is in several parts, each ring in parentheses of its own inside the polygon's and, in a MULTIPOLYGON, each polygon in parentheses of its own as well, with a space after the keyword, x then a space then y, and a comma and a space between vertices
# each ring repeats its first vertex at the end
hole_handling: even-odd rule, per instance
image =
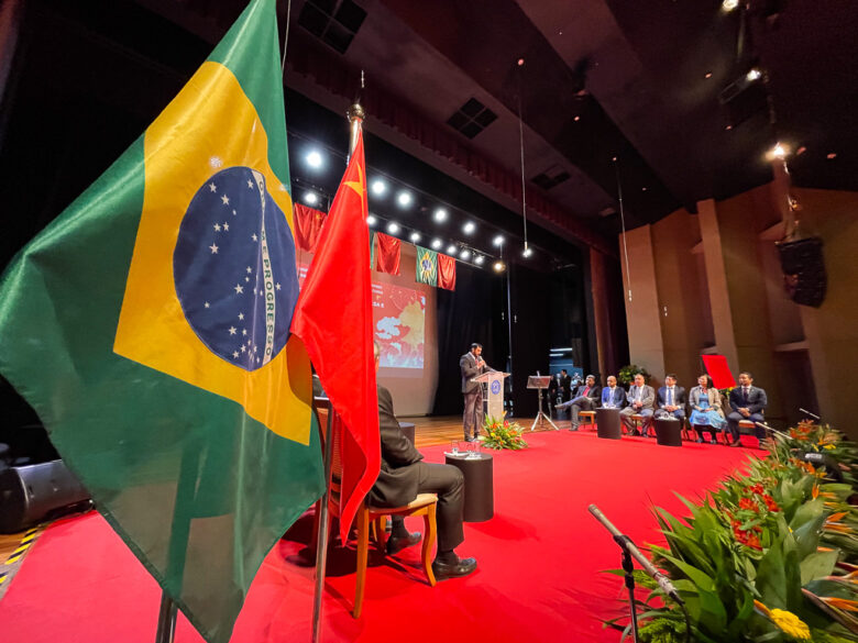
MULTIPOLYGON (((327 426, 328 411, 324 409, 318 409, 319 420, 323 420, 326 423, 321 426, 327 426)), ((333 457, 331 458, 331 476, 328 480, 328 533, 331 531, 331 521, 333 518, 340 518, 340 494, 342 492, 342 459, 340 457, 340 435, 342 431, 342 424, 337 421, 332 422, 332 439, 333 439, 333 457)), ((324 429, 322 429, 324 433, 324 429)), ((436 509, 438 506, 438 496, 435 494, 419 494, 408 505, 403 507, 371 507, 366 503, 366 499, 361 502, 358 513, 355 515, 355 524, 358 528, 358 569, 355 578, 354 589, 354 606, 352 608, 352 616, 356 619, 361 616, 363 608, 364 587, 366 584, 366 564, 370 556, 370 532, 373 531, 373 540, 378 546, 378 551, 382 555, 387 554, 387 534, 385 531, 385 522, 387 515, 422 515, 424 517, 424 545, 421 552, 421 561, 424 572, 429 580, 429 585, 435 587, 436 578, 432 573, 432 547, 438 537, 438 530, 436 525, 436 509)), ((311 543, 311 550, 316 547, 318 543, 318 521, 321 512, 321 500, 316 503, 316 522, 314 524, 314 542, 311 543)), ((344 545, 345 543, 343 543, 344 545)))

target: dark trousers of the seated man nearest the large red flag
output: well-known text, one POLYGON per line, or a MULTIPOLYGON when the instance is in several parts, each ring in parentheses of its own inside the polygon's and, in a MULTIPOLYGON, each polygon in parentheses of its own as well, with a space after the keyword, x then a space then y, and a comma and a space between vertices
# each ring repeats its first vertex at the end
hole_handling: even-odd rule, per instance
MULTIPOLYGON (((464 541, 462 511, 464 510, 464 476, 452 465, 418 462, 410 465, 418 468, 418 494, 438 494, 438 551, 449 552, 464 541)), ((396 523, 402 517, 393 517, 394 535, 400 529, 396 523)), ((425 534, 424 534, 425 535, 425 534)))

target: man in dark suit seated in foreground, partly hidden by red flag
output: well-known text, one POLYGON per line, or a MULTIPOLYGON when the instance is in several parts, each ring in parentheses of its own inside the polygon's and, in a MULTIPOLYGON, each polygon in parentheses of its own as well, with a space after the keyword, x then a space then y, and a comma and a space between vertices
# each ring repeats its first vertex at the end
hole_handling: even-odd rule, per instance
MULTIPOLYGON (((375 345, 375 369, 378 370, 378 345, 375 345)), ((432 562, 437 580, 466 576, 476 569, 475 558, 460 558, 455 553, 464 541, 462 511, 464 508, 464 478, 452 465, 420 462, 424 456, 405 436, 394 415, 391 391, 378 386, 378 429, 382 434, 382 468, 370 490, 372 507, 402 507, 418 494, 438 494, 438 552, 432 562)), ((393 517, 393 531, 387 541, 387 553, 420 542, 420 533, 410 534, 400 515, 393 517)))

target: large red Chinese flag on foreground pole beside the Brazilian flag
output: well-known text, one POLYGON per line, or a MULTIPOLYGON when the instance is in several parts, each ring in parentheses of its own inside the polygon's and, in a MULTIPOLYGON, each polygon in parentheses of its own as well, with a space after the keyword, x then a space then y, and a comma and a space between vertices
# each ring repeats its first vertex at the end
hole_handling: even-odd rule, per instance
POLYGON ((375 390, 370 229, 363 134, 319 235, 292 332, 307 346, 331 406, 342 419, 340 537, 378 477, 382 446, 375 390))

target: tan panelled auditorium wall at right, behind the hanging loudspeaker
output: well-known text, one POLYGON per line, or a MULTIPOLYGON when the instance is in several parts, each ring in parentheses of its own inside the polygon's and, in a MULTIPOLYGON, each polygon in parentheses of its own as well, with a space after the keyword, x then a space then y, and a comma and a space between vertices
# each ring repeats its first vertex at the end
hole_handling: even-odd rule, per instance
MULTIPOLYGON (((630 362, 694 385, 700 355, 727 357, 769 393, 768 418, 796 421, 818 410, 853 436, 848 374, 858 363, 858 193, 794 188, 801 231, 824 242, 828 293, 818 309, 783 291, 776 241, 783 236, 772 185, 673 212, 626 234, 631 301, 626 297, 630 362), (843 383, 843 384, 842 384, 843 383), (838 386, 839 385, 839 386, 838 386)), ((620 242, 623 239, 620 237, 620 242)), ((624 258, 624 287, 628 292, 624 258)))

